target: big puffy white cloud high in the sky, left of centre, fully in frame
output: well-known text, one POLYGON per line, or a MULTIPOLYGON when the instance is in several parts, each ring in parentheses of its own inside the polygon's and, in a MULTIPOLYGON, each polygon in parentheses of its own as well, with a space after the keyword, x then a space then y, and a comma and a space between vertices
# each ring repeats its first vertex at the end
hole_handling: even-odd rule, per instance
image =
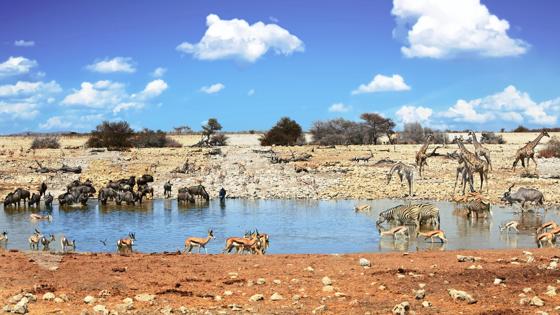
POLYGON ((250 25, 242 19, 222 20, 215 14, 206 17, 208 29, 196 44, 183 42, 177 50, 200 60, 238 59, 255 62, 273 50, 290 55, 303 51, 303 42, 276 24, 256 22, 250 25))

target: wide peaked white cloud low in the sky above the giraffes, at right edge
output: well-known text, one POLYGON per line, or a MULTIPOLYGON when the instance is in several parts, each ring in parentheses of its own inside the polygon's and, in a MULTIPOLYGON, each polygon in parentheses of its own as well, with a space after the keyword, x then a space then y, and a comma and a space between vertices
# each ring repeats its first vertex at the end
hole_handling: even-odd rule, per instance
POLYGON ((441 116, 456 122, 484 123, 495 119, 520 123, 527 120, 539 126, 554 125, 558 118, 557 100, 537 103, 528 93, 510 85, 503 91, 470 101, 458 100, 441 116))

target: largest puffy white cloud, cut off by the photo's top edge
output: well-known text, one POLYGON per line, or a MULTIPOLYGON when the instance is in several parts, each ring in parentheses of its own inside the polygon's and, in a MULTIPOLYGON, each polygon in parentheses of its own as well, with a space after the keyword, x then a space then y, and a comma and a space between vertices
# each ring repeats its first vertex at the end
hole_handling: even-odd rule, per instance
POLYGON ((461 54, 517 56, 529 45, 508 36, 509 22, 480 0, 393 0, 394 35, 404 35, 405 57, 449 58, 461 54), (410 27, 410 28, 409 28, 410 27))

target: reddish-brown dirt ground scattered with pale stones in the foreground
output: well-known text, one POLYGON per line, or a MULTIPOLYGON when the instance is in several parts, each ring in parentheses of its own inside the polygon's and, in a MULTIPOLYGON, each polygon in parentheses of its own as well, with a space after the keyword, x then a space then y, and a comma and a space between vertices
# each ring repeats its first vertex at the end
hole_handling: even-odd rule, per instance
POLYGON ((94 314, 97 305, 113 314, 388 314, 402 302, 410 304, 410 314, 556 313, 560 271, 552 261, 558 250, 531 251, 55 258, 0 252, 0 305, 32 293, 37 301, 29 302, 30 314, 94 314), (480 260, 459 262, 457 255, 480 260), (371 267, 362 267, 360 258, 371 267), (473 300, 454 300, 449 289, 473 300), (55 300, 43 300, 47 292, 55 300), (257 294, 262 300, 250 301, 257 294), (95 298, 91 304, 84 302, 88 295, 95 298))

